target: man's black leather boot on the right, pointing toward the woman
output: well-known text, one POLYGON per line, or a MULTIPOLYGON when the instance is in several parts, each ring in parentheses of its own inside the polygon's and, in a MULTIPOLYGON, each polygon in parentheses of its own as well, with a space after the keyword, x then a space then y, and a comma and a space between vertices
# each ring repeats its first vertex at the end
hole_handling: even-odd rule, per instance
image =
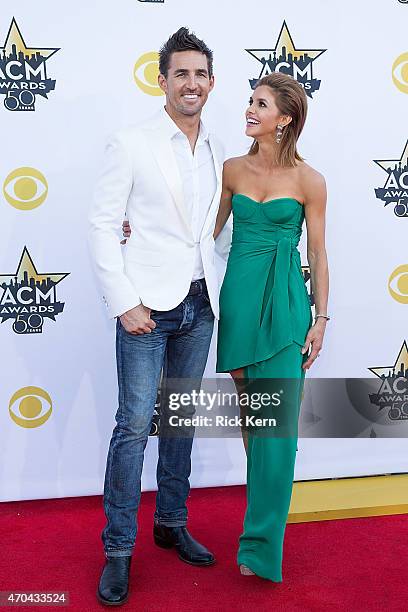
POLYGON ((153 538, 161 548, 175 548, 182 561, 191 565, 212 565, 215 558, 205 546, 194 540, 187 527, 154 525, 153 538))

